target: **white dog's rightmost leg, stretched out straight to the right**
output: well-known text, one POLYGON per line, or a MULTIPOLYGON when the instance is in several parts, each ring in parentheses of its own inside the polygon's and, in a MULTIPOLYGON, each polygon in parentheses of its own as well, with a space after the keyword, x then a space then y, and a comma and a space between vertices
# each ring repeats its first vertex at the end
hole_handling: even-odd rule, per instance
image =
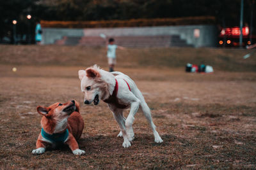
POLYGON ((154 125, 154 123, 152 121, 150 108, 148 108, 148 105, 147 105, 147 103, 145 103, 145 101, 141 102, 140 106, 141 106, 141 110, 143 111, 143 114, 145 115, 145 117, 148 120, 148 124, 150 124, 150 126, 152 128, 154 138, 155 138, 155 142, 156 143, 162 143, 163 139, 161 139, 161 137, 159 136, 158 132, 156 131, 156 125, 154 125))

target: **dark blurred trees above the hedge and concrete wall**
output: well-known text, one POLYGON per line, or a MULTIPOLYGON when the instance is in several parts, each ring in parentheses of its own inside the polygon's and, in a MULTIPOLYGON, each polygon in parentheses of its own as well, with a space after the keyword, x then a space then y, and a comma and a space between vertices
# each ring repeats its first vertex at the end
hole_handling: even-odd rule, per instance
MULTIPOLYGON (((244 0, 244 24, 250 24, 252 8, 256 13, 253 1, 244 0)), ((211 15, 218 25, 237 26, 240 3, 241 0, 0 0, 0 36, 12 29, 13 19, 21 24, 19 27, 27 27, 28 13, 33 17, 32 24, 36 19, 129 20, 211 15)))

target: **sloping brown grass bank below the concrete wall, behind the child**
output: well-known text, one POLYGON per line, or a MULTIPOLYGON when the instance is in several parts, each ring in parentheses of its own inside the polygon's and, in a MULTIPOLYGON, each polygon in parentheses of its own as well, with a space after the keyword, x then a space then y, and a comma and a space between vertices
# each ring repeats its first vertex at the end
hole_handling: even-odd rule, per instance
MULTIPOLYGON (((223 48, 127 48, 118 50, 118 66, 184 67, 207 64, 221 71, 256 71, 256 53, 244 60, 251 52, 223 48)), ((107 66, 106 49, 85 46, 6 46, 0 45, 0 64, 37 66, 107 66)))

